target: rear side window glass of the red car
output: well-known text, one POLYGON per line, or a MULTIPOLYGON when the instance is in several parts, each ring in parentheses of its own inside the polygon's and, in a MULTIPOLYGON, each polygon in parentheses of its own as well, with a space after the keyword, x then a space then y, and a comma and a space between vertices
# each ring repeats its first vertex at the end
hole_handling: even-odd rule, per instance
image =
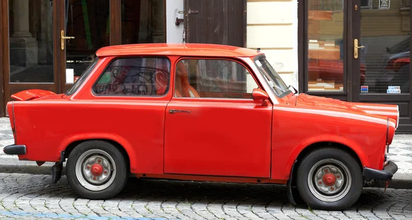
POLYGON ((114 60, 93 86, 96 95, 163 96, 168 93, 168 58, 114 60))

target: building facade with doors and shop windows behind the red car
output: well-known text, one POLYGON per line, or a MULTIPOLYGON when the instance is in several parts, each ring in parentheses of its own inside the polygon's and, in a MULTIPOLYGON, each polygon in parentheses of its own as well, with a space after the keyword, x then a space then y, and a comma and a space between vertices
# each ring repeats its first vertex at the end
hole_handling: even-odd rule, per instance
POLYGON ((0 95, 64 93, 106 45, 260 48, 300 93, 396 103, 412 132, 410 0, 1 0, 0 95), (74 38, 72 38, 74 37, 74 38))

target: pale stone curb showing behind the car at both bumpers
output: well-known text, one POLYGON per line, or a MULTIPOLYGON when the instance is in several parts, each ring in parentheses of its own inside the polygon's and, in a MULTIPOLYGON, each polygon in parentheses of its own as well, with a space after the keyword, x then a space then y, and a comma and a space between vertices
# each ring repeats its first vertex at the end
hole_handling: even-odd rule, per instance
MULTIPOLYGON (((51 175, 51 168, 54 162, 45 162, 38 167, 34 161, 23 161, 14 158, 0 159, 0 173, 24 173, 32 175, 51 175)), ((66 175, 66 166, 63 164, 62 175, 66 175)), ((375 182, 365 188, 385 188, 385 182, 375 182)), ((387 188, 393 189, 412 189, 412 173, 395 173, 392 181, 387 188)))

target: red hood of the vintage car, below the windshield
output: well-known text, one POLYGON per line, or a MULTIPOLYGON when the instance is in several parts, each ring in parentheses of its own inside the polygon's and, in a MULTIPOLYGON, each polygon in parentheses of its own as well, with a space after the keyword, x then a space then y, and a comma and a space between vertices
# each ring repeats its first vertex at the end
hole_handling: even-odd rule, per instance
POLYGON ((325 110, 339 110, 383 116, 395 120, 396 127, 399 125, 399 108, 397 105, 348 102, 339 99, 307 95, 304 93, 299 94, 295 105, 300 107, 324 108, 325 110))

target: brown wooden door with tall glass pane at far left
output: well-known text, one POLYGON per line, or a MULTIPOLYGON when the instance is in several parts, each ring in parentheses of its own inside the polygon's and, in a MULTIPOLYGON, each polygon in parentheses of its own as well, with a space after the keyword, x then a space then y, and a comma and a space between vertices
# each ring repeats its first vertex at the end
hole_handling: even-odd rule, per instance
POLYGON ((58 93, 60 56, 58 5, 34 1, 1 1, 1 72, 3 73, 3 115, 10 95, 21 90, 43 89, 58 93))

